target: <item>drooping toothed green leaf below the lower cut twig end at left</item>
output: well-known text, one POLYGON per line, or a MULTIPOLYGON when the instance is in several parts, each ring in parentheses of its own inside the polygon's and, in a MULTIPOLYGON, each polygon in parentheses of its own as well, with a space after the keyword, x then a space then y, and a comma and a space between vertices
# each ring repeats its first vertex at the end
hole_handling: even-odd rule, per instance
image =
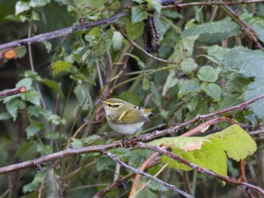
POLYGON ((6 110, 12 116, 13 120, 17 119, 18 110, 26 108, 26 103, 18 98, 13 98, 10 101, 6 102, 6 110))

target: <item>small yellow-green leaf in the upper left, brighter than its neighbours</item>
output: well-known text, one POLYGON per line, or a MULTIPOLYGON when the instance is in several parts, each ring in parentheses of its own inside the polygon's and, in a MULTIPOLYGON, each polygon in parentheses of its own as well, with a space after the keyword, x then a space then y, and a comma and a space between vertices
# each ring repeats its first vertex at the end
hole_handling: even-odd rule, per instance
POLYGON ((60 73, 68 74, 68 73, 77 73, 78 69, 74 67, 72 63, 65 61, 57 61, 51 64, 52 75, 56 76, 60 73))

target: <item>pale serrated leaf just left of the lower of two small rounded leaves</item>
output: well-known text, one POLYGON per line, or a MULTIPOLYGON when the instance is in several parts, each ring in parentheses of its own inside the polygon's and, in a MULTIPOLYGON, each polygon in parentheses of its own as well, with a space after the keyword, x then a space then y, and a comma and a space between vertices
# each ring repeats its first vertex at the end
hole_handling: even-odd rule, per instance
POLYGON ((182 98, 184 95, 187 94, 195 94, 200 91, 199 83, 195 80, 181 80, 178 83, 179 85, 179 92, 178 98, 182 98))

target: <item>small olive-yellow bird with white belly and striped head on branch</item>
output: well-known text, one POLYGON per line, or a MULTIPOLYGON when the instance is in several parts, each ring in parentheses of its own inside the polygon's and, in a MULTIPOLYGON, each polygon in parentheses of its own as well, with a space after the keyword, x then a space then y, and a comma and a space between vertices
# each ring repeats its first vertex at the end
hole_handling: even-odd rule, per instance
POLYGON ((135 135, 145 122, 150 121, 149 116, 156 117, 151 111, 158 108, 145 109, 114 98, 100 102, 104 106, 106 120, 110 128, 124 135, 132 133, 135 135))

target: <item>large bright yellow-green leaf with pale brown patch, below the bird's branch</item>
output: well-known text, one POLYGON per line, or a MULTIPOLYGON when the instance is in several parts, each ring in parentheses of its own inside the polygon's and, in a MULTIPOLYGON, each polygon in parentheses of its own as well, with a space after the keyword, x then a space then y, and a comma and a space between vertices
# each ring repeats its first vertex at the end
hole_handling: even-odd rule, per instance
MULTIPOLYGON (((226 157, 239 161, 257 150, 254 140, 237 124, 206 137, 161 138, 149 144, 169 146, 174 154, 222 176, 227 175, 226 157)), ((170 168, 191 170, 167 156, 162 156, 161 162, 169 162, 170 168)))

